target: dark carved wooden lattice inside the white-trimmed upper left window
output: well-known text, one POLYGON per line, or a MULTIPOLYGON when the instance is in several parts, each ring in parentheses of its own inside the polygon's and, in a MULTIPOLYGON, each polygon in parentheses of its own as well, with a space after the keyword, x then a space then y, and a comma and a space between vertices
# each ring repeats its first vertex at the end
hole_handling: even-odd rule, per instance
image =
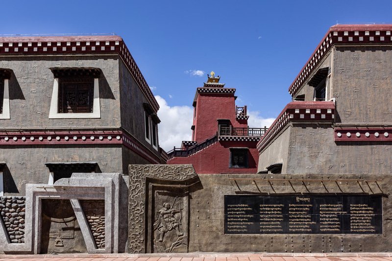
POLYGON ((92 113, 94 78, 62 78, 59 82, 58 113, 92 113))

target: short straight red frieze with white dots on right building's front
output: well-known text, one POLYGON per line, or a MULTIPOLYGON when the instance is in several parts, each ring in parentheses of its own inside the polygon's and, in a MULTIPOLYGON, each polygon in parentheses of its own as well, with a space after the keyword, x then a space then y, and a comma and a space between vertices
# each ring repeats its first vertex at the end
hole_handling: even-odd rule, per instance
POLYGON ((392 142, 392 127, 334 129, 335 142, 392 142))

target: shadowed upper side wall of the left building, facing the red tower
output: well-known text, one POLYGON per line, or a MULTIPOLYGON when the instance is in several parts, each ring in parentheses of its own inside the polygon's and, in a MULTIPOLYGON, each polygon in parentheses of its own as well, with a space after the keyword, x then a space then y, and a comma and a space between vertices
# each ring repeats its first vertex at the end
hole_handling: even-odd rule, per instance
POLYGON ((144 144, 156 155, 159 155, 158 151, 153 148, 149 142, 146 141, 145 136, 145 109, 143 107, 143 103, 149 102, 122 60, 119 61, 119 71, 121 92, 121 125, 139 142, 144 144))

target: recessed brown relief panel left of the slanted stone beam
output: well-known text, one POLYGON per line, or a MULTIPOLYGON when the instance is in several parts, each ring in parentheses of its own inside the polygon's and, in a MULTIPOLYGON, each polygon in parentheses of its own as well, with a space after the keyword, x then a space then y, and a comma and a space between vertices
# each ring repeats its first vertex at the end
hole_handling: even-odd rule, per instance
POLYGON ((40 253, 86 252, 86 244, 70 200, 43 199, 40 253))

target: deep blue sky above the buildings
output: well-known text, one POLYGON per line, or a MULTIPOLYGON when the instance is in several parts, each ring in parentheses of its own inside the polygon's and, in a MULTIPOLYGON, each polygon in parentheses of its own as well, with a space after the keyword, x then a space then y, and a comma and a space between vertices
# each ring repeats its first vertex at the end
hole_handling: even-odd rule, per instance
POLYGON ((215 71, 237 88, 238 105, 275 118, 331 25, 392 23, 391 7, 381 0, 6 1, 0 33, 114 32, 170 108, 191 106, 196 87, 215 71))

